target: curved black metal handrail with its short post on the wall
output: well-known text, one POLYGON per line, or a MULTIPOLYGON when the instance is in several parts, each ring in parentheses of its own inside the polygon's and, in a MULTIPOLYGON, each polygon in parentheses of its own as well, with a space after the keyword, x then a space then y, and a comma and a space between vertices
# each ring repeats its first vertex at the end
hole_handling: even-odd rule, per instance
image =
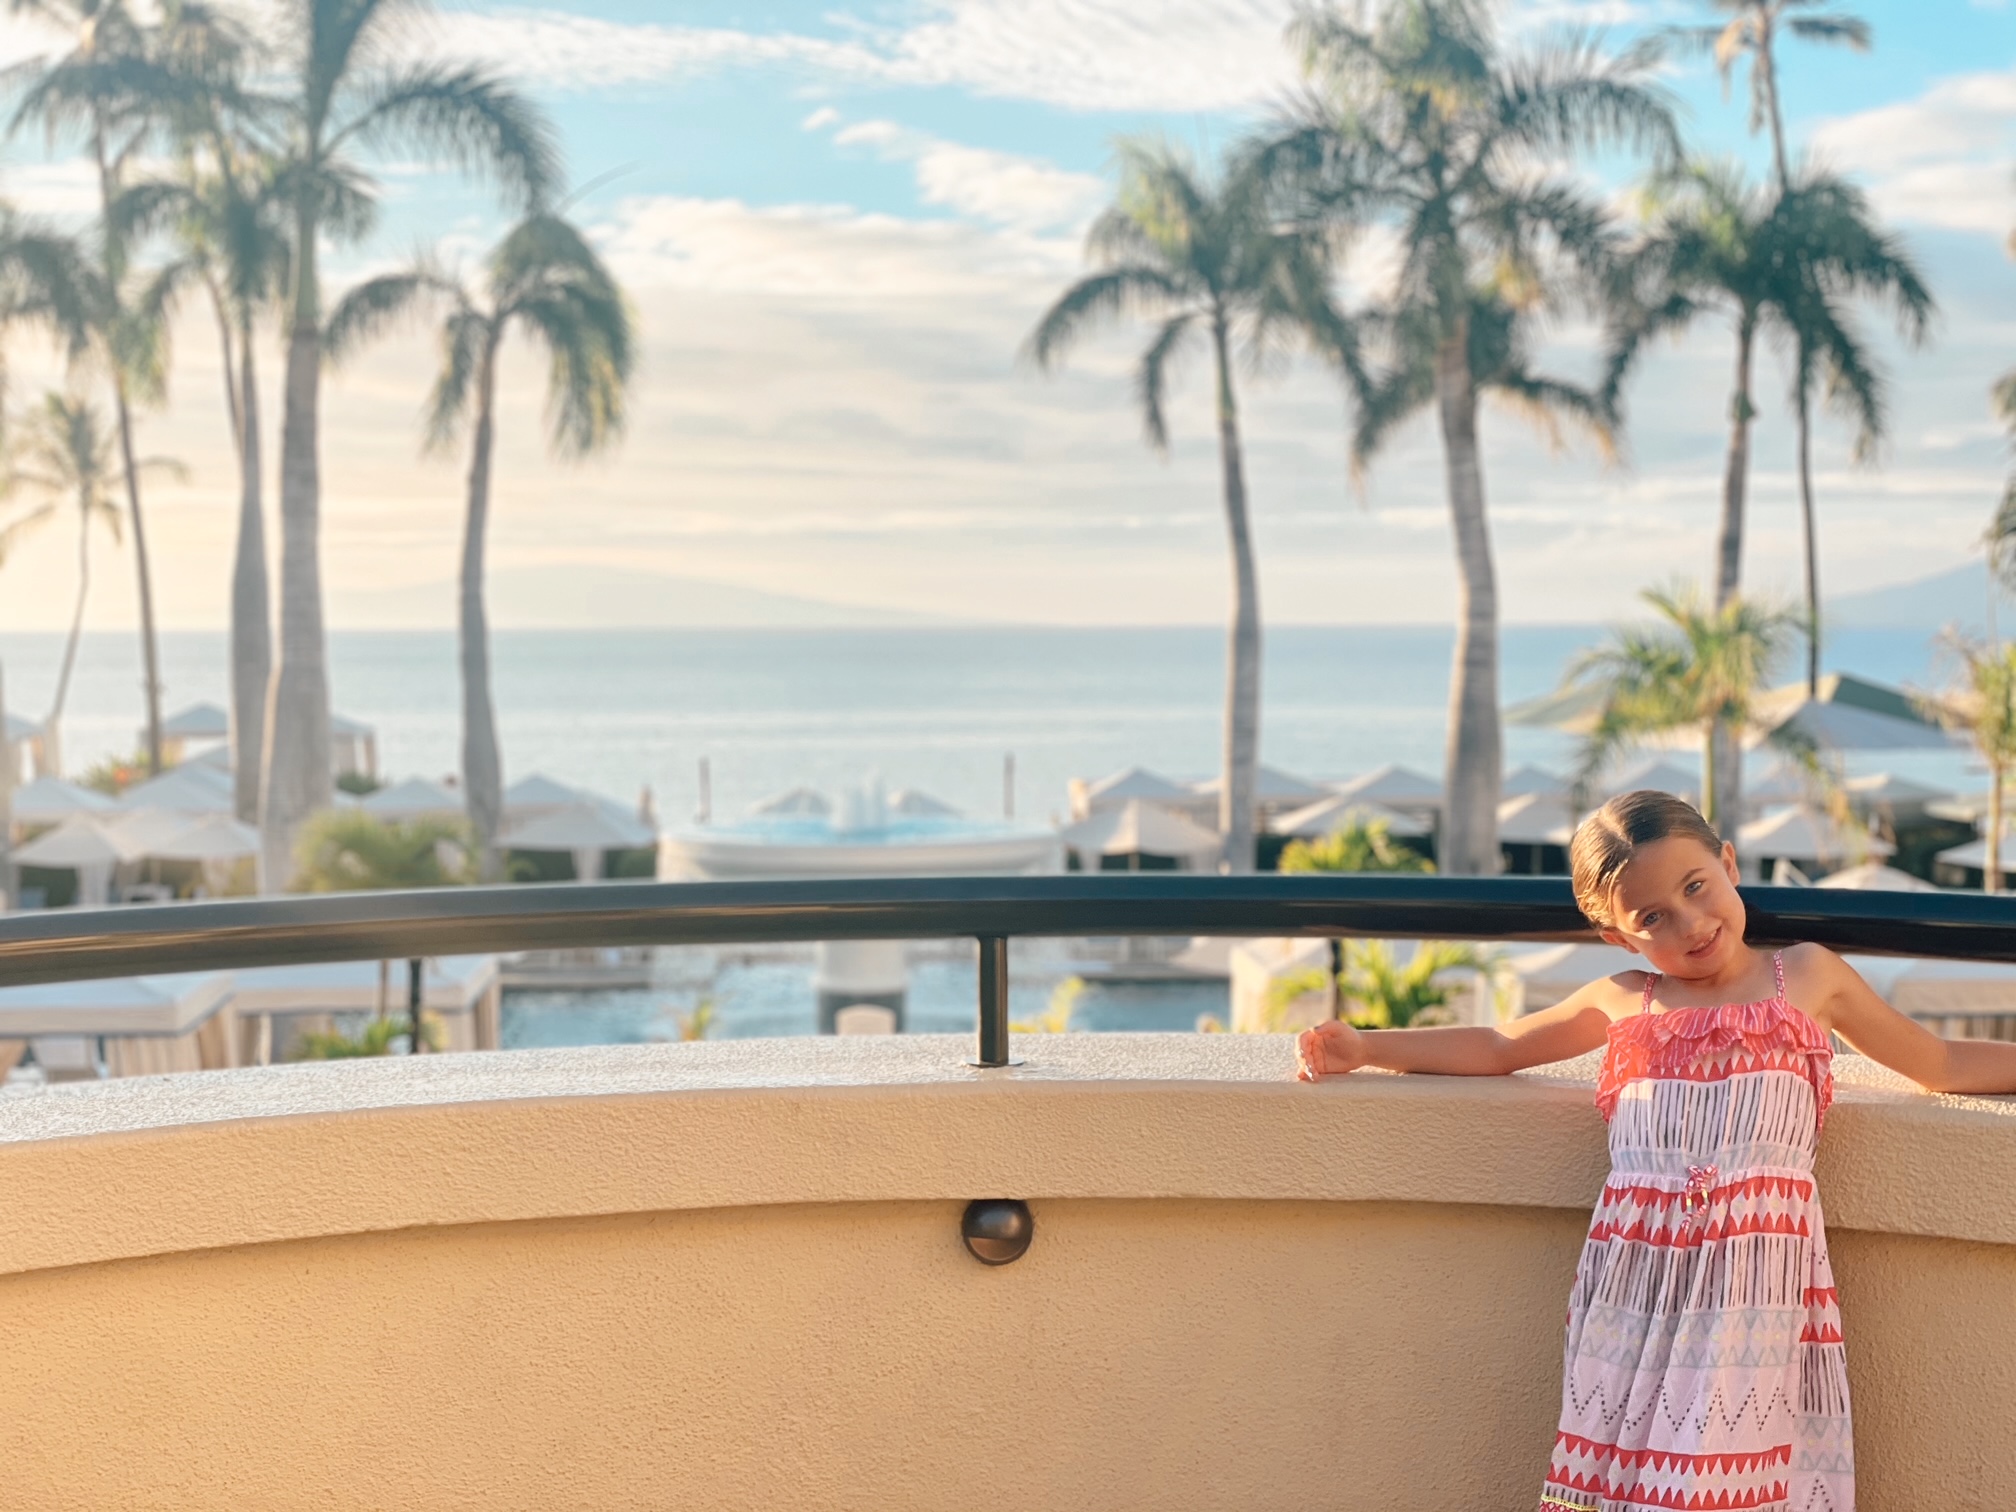
MULTIPOLYGON (((2016 899, 1746 887, 1750 937, 2016 962, 2016 899)), ((895 877, 327 893, 0 917, 0 986, 577 946, 980 941, 976 1064, 1008 1064, 1008 941, 1042 935, 1591 939, 1558 877, 895 877)))

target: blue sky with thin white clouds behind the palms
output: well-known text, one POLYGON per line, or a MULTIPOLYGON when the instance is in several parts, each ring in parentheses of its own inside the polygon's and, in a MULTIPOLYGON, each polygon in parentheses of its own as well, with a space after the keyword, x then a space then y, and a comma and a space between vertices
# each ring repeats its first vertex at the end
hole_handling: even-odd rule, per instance
MULTIPOLYGON (((2016 365, 2016 10, 1966 0, 1853 6, 1871 54, 1792 44, 1792 133, 1853 171, 1941 298, 1937 343, 1889 351, 1893 446, 1849 466, 1818 450, 1822 573, 1869 587, 1960 560, 2006 470, 1986 385, 2016 365)), ((1079 270, 1115 137, 1224 147, 1294 81, 1282 0, 887 0, 883 4, 444 6, 415 50, 514 75, 550 111, 573 179, 609 181, 577 214, 625 276, 645 369, 623 452, 560 468, 538 446, 538 373, 506 367, 494 552, 556 575, 643 569, 925 615, 1060 623, 1224 613, 1224 540, 1202 377, 1173 403, 1167 460, 1139 442, 1135 335, 1058 377, 1016 347, 1079 270)), ((1623 42, 1695 20, 1681 0, 1512 4, 1520 42, 1603 26, 1623 42)), ((0 52, 34 46, 16 22, 0 52)), ((1689 139, 1762 167, 1746 85, 1675 69, 1689 139)), ((480 187, 387 161, 387 216, 335 276, 415 246, 472 268, 504 224, 480 187)), ((1621 185, 1629 165, 1595 171, 1621 185)), ((52 214, 89 204, 73 161, 0 155, 0 194, 52 214)), ((147 450, 187 460, 157 528, 173 623, 224 613, 230 468, 216 361, 185 323, 173 403, 147 450)), ((1704 327, 1633 391, 1631 460, 1552 458, 1486 419, 1506 613, 1627 611, 1637 589, 1706 573, 1722 464, 1728 333, 1704 327)), ((1589 335, 1548 359, 1587 375, 1589 335)), ((325 425, 325 556, 337 623, 448 623, 460 466, 421 460, 427 343, 387 343, 337 375, 325 425), (387 595, 385 589, 415 589, 387 595)), ((268 373, 278 365, 272 355, 268 373)), ((1796 583, 1790 444, 1776 367, 1760 369, 1750 583, 1796 583)), ((276 401, 270 399, 276 409, 276 401)), ((1345 480, 1343 401, 1310 365, 1246 385, 1262 595, 1282 621, 1437 621, 1454 601, 1439 456, 1427 427, 1345 480)), ((36 550, 44 550, 38 546, 36 550)), ((62 554, 10 571, 0 627, 58 623, 62 554)), ((107 575, 113 577, 113 575, 107 575)), ((109 585, 93 623, 131 605, 109 585)))

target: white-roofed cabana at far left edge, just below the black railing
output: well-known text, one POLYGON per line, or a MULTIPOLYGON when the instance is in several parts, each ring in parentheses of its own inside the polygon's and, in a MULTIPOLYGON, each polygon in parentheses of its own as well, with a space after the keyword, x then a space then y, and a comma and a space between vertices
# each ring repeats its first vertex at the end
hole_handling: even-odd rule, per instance
POLYGON ((230 996, 226 972, 0 988, 0 1058, 26 1040, 52 1079, 97 1075, 101 1046, 111 1077, 236 1066, 230 996))

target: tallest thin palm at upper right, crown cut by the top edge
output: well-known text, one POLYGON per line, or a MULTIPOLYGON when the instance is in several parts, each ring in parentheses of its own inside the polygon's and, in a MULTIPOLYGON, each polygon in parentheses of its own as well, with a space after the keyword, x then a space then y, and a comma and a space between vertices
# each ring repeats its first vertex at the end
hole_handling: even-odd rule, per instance
MULTIPOLYGON (((1770 131, 1772 175, 1778 194, 1792 190, 1790 155, 1784 145, 1784 113, 1778 109, 1778 30, 1806 42, 1835 42, 1869 50, 1869 22, 1847 12, 1808 12, 1820 0, 1712 0, 1730 12, 1720 26, 1673 26, 1669 36, 1708 50, 1728 91, 1736 60, 1750 58, 1750 131, 1770 131)), ((1814 351, 1804 331, 1794 333, 1792 415, 1798 433, 1798 514, 1806 540, 1806 691, 1820 687, 1820 550, 1812 518, 1812 383, 1814 351)))

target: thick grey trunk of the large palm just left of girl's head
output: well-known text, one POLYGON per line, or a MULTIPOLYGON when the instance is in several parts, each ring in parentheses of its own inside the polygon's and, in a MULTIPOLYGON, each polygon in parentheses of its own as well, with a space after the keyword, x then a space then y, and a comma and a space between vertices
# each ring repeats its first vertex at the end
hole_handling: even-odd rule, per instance
POLYGON ((1437 865, 1452 877, 1492 877, 1500 867, 1498 790, 1504 782, 1504 736, 1498 724, 1498 575, 1492 569, 1492 536, 1484 518, 1484 468, 1478 458, 1478 393, 1470 375, 1468 319, 1458 321, 1435 353, 1435 399, 1441 409, 1441 454, 1460 573, 1437 865))

